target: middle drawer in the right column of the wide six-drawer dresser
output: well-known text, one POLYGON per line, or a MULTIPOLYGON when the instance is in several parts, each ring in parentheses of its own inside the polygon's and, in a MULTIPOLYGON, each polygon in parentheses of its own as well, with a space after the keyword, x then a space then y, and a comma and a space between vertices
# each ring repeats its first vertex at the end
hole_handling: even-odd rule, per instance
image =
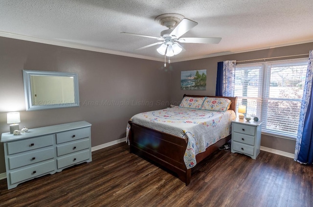
POLYGON ((90 147, 89 138, 71 141, 66 144, 57 146, 57 156, 66 155, 83 149, 89 149, 89 147, 90 147))

